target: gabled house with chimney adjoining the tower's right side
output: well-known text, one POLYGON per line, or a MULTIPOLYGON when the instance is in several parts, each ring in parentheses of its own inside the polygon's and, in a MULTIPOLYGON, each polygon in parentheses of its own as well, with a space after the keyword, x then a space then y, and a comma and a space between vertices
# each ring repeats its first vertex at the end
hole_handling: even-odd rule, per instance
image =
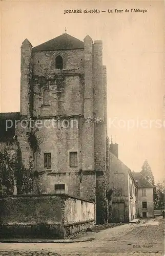
POLYGON ((129 222, 136 218, 137 188, 131 170, 118 159, 118 144, 110 144, 109 189, 113 190, 110 222, 129 222))

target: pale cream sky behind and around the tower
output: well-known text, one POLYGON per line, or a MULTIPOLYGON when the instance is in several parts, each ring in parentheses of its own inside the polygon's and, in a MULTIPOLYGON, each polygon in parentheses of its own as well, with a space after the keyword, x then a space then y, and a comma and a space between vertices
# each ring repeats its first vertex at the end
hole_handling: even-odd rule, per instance
POLYGON ((147 159, 155 181, 161 180, 165 167, 164 2, 2 0, 0 9, 0 112, 19 111, 20 46, 25 38, 37 46, 63 34, 65 27, 80 40, 88 34, 93 41, 103 42, 108 135, 119 145, 119 158, 135 172, 147 159), (64 14, 65 9, 82 13, 64 14), (100 13, 84 13, 85 9, 100 13))

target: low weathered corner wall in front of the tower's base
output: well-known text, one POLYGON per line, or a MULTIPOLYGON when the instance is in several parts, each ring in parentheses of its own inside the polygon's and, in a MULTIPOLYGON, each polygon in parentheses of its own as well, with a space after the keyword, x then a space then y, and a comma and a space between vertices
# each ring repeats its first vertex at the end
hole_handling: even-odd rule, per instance
POLYGON ((66 194, 0 199, 0 237, 64 238, 95 224, 95 204, 66 194))

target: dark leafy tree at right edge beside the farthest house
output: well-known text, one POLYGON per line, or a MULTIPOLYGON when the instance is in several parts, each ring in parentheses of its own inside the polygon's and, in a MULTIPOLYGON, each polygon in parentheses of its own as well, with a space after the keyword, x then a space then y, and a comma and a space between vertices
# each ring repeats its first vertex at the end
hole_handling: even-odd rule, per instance
POLYGON ((164 209, 164 183, 161 181, 156 184, 154 209, 164 209))

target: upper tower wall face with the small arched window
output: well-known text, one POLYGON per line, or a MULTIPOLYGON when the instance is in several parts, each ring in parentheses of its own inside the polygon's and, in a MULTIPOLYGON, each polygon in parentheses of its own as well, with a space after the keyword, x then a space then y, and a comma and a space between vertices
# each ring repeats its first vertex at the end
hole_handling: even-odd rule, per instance
POLYGON ((35 52, 33 54, 34 116, 70 116, 83 112, 84 50, 35 52), (56 56, 63 70, 55 67, 56 56), (47 102, 44 90, 48 91, 47 102))

